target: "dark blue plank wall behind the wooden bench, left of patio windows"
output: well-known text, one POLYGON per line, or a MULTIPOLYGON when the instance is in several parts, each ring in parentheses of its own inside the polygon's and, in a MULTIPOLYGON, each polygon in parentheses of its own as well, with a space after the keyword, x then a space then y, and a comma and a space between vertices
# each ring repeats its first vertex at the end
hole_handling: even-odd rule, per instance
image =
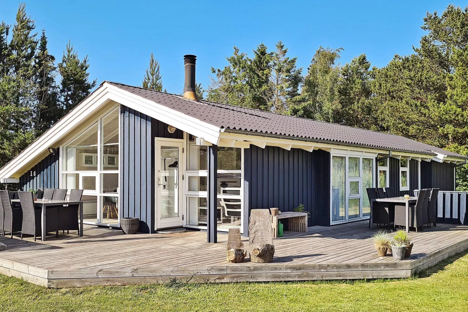
POLYGON ((303 204, 310 213, 308 226, 329 225, 330 154, 303 149, 244 149, 248 211, 277 207, 281 211, 303 204))

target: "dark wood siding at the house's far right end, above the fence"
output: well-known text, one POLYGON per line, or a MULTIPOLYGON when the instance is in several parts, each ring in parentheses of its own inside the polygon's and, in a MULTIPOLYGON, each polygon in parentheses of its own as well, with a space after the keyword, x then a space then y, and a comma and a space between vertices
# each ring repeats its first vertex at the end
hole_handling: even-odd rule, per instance
POLYGON ((421 188, 439 188, 454 191, 453 163, 421 162, 421 188))

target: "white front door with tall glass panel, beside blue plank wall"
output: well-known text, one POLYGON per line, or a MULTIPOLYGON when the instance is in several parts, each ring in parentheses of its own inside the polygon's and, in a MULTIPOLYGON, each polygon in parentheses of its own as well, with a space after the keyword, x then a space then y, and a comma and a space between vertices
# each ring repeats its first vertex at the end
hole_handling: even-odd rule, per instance
POLYGON ((182 226, 183 141, 156 141, 156 229, 182 226))

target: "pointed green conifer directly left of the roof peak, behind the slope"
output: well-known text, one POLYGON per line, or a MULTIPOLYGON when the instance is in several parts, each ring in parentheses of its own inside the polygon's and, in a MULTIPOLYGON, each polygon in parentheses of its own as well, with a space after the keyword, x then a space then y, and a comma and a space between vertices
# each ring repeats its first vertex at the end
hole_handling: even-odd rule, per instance
POLYGON ((96 86, 96 80, 89 81, 88 56, 80 60, 78 52, 73 50, 70 42, 66 45, 58 68, 61 76, 59 103, 64 115, 91 93, 91 89, 96 86))

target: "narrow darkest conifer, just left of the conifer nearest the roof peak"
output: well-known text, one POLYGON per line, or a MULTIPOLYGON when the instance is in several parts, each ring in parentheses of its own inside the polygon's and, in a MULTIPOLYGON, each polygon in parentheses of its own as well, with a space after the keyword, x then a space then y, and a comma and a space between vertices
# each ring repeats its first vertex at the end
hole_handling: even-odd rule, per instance
POLYGON ((36 55, 36 83, 37 83, 37 106, 35 109, 35 130, 40 135, 53 126, 60 118, 58 108, 58 88, 55 84, 57 67, 55 67, 55 57, 47 50, 47 37, 45 30, 39 41, 39 48, 36 55))

